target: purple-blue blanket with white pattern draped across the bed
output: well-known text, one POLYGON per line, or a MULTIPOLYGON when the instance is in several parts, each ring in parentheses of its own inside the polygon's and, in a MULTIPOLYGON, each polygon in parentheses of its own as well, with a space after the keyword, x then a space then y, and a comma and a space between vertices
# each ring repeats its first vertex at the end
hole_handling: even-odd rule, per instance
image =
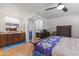
POLYGON ((61 36, 52 36, 38 42, 34 48, 34 51, 38 51, 40 54, 50 56, 53 48, 60 41, 61 36))

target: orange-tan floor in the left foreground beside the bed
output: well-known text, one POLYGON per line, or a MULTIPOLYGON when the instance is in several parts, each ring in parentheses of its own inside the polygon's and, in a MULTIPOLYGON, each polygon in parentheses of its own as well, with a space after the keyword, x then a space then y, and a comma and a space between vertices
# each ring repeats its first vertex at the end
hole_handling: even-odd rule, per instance
POLYGON ((0 56, 32 56, 33 44, 28 43, 7 51, 0 49, 0 56))

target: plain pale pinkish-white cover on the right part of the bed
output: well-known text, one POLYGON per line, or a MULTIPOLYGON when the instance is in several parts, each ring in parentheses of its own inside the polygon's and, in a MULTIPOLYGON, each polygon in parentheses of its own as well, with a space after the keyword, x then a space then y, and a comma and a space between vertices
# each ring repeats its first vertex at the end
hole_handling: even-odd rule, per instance
POLYGON ((53 56, 79 56, 79 39, 62 37, 52 49, 53 56))

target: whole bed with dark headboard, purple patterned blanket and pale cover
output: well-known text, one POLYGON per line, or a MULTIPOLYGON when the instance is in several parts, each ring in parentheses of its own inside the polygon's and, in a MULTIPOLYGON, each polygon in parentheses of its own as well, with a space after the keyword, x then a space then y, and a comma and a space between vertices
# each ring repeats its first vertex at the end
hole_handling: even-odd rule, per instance
POLYGON ((71 38, 71 26, 57 26, 57 36, 38 42, 35 50, 45 56, 79 56, 79 39, 71 38))

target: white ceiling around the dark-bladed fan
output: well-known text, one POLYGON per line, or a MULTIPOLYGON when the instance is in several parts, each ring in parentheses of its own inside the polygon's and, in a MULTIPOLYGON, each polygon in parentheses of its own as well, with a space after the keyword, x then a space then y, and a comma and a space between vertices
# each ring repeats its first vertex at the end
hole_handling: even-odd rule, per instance
POLYGON ((13 3, 13 5, 17 6, 24 15, 34 13, 46 19, 79 13, 79 3, 64 3, 64 5, 68 8, 68 12, 63 12, 62 10, 57 9, 49 11, 45 10, 46 8, 57 6, 57 3, 13 3))

